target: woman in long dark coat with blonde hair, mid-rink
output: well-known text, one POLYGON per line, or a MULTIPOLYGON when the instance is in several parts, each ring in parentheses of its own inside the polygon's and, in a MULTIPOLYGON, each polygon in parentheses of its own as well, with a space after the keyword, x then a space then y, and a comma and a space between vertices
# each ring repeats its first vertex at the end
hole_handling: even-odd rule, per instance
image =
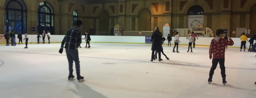
POLYGON ((153 62, 154 59, 154 53, 155 51, 158 51, 158 60, 161 61, 161 50, 162 50, 162 33, 159 31, 159 27, 156 26, 155 31, 152 33, 151 41, 152 41, 152 54, 151 54, 151 62, 153 62))

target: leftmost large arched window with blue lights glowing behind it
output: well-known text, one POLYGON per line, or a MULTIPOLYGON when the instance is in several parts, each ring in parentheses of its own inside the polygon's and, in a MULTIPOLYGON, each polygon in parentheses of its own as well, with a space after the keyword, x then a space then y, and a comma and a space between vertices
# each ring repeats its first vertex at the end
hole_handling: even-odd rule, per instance
POLYGON ((27 31, 27 8, 23 0, 6 0, 4 4, 4 29, 15 34, 27 31))

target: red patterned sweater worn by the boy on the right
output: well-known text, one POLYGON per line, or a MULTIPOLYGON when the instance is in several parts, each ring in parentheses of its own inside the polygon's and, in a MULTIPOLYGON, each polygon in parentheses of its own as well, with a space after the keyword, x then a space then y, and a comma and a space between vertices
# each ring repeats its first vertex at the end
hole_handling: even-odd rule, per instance
MULTIPOLYGON (((217 38, 216 38, 217 39, 217 38)), ((225 48, 227 45, 234 45, 234 42, 231 38, 229 40, 225 38, 219 38, 219 41, 216 41, 215 38, 212 39, 211 45, 209 48, 209 55, 212 56, 213 59, 222 59, 225 58, 225 48)))

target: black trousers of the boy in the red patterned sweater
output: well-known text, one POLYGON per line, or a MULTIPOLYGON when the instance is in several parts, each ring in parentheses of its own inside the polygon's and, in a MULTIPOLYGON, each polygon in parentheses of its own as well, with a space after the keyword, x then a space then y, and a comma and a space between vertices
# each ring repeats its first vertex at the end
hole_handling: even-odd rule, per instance
POLYGON ((214 74, 214 70, 216 69, 217 65, 219 63, 220 66, 220 73, 222 77, 226 77, 226 72, 225 72, 225 58, 222 59, 212 59, 212 67, 209 72, 209 77, 212 77, 214 74))

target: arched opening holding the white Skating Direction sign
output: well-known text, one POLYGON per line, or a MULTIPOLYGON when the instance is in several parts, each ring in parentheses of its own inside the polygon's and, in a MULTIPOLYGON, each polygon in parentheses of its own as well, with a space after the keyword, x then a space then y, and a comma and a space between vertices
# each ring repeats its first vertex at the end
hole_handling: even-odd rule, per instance
POLYGON ((204 24, 204 9, 200 5, 193 5, 188 10, 188 28, 198 23, 204 24))

